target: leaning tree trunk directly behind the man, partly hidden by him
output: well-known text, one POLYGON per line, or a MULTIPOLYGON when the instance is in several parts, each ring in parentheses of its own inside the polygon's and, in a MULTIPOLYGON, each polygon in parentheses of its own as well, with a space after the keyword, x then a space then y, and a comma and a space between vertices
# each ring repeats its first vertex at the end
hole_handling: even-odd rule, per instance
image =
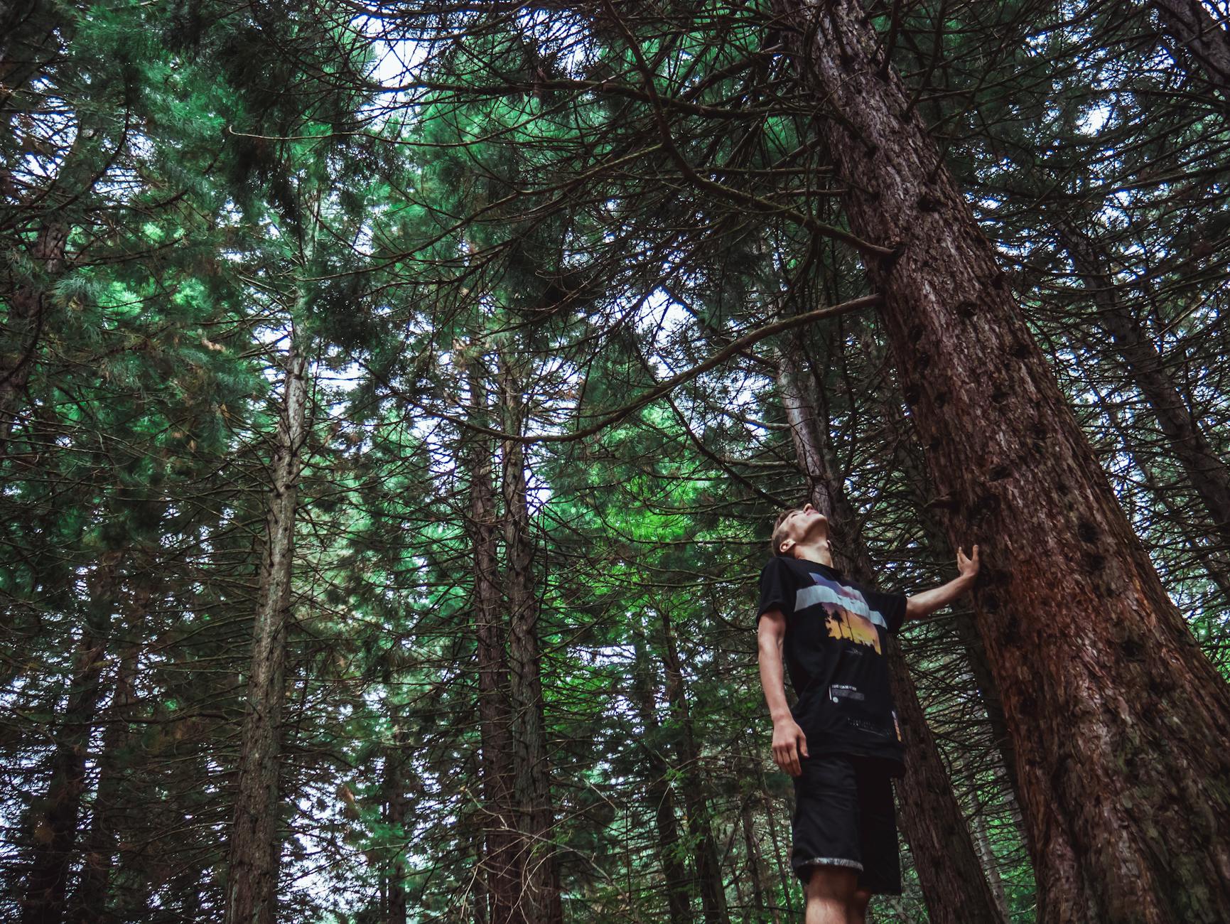
MULTIPOLYGON (((834 469, 815 405, 788 352, 779 359, 777 389, 808 497, 830 520, 833 565, 856 581, 871 582, 875 571, 867 549, 851 535, 856 518, 844 477, 834 469)), ((914 855, 929 917, 935 924, 1004 924, 895 639, 889 640, 887 656, 905 746, 907 773, 897 783, 902 832, 914 855)))

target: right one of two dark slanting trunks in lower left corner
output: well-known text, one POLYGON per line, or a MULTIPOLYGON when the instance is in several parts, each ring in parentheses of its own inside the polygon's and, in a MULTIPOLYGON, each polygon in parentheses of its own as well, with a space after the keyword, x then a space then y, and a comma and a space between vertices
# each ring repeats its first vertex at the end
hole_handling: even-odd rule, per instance
MULTIPOLYGON (((128 634, 132 639, 141 639, 145 626, 145 614, 154 598, 154 584, 149 572, 133 578, 132 604, 127 619, 128 634)), ((140 652, 137 641, 123 650, 119 667, 116 672, 116 689, 107 710, 107 730, 102 738, 102 754, 98 758, 98 786, 93 797, 93 817, 90 834, 85 843, 85 865, 81 881, 73 899, 73 917, 80 924, 112 920, 114 914, 107 910, 111 885, 112 862, 116 855, 117 828, 124 806, 124 764, 132 735, 128 722, 137 703, 134 683, 137 680, 137 657, 140 652)))

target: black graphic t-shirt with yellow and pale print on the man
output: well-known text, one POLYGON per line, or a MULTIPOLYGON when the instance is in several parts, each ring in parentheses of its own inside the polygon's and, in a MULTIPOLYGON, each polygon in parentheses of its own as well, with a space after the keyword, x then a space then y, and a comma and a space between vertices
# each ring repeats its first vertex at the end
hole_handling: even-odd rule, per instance
POLYGON ((790 710, 808 754, 904 757, 888 685, 888 635, 905 618, 905 594, 866 588, 817 561, 774 556, 760 572, 756 623, 786 618, 782 651, 798 703, 790 710))

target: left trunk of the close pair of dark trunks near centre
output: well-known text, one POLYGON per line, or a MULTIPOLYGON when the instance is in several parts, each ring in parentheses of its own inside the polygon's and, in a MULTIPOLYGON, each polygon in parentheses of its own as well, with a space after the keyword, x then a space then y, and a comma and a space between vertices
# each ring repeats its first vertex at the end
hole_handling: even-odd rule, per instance
MULTIPOLYGON (((477 362, 477 360, 476 360, 477 362)), ((470 416, 490 426, 487 388, 482 369, 469 370, 470 416)), ((474 548, 474 632, 478 655, 478 726, 482 741, 482 794, 485 856, 483 883, 490 924, 524 919, 519 904, 519 834, 513 789, 513 757, 506 656, 503 592, 497 561, 496 497, 492 487, 492 450, 487 437, 475 432, 467 447, 470 469, 470 518, 474 548), (518 918, 520 915, 520 918, 518 918)))

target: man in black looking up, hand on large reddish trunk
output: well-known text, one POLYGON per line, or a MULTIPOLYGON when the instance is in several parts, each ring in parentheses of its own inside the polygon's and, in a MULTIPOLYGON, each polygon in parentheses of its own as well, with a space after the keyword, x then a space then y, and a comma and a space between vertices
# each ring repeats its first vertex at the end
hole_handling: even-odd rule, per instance
POLYGON ((907 597, 834 568, 829 520, 812 504, 779 516, 770 543, 756 635, 774 760, 795 783, 791 866, 807 894, 806 924, 863 924, 873 893, 902 892, 889 780, 904 764, 888 635, 969 589, 978 546, 969 559, 957 550, 959 577, 907 597))

